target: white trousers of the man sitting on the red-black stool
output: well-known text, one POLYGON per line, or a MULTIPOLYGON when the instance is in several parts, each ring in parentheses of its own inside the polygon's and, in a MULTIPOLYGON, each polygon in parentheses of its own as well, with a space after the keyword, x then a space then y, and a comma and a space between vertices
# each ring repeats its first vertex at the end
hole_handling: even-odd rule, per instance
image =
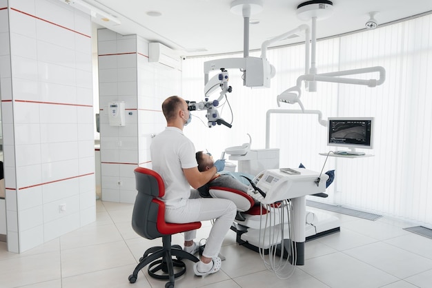
MULTIPOLYGON (((188 199, 186 205, 165 210, 168 223, 190 223, 215 219, 206 241, 203 256, 213 258, 219 254, 224 237, 233 224, 237 207, 231 200, 215 198, 188 199)), ((184 232, 184 240, 190 241, 197 236, 197 230, 184 232)))

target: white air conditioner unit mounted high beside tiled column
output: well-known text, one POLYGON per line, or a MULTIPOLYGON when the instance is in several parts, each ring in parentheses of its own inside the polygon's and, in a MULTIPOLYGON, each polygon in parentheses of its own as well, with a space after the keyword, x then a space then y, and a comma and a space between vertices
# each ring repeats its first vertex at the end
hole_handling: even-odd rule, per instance
POLYGON ((177 51, 161 43, 148 43, 148 61, 181 70, 181 56, 177 51))

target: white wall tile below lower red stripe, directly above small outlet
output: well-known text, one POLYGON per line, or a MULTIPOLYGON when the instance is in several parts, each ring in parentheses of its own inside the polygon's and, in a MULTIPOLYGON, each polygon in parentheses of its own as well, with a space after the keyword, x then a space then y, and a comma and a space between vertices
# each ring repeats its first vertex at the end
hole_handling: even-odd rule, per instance
POLYGON ((63 198, 70 198, 79 194, 79 178, 72 178, 63 181, 47 183, 42 185, 43 203, 61 201, 63 198))

